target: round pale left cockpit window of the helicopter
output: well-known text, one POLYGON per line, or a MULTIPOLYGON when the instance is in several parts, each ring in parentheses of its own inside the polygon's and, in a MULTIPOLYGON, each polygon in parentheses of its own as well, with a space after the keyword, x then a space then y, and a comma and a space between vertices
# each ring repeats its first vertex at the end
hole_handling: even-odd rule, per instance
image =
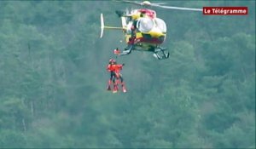
POLYGON ((149 32, 154 27, 154 21, 148 18, 141 18, 137 21, 137 29, 140 32, 149 32))

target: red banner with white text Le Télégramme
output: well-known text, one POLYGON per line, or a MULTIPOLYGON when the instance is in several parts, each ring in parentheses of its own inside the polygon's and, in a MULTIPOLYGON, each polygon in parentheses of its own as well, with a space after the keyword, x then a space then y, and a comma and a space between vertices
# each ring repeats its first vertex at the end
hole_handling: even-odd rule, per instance
POLYGON ((205 15, 247 15, 247 7, 203 7, 205 15))

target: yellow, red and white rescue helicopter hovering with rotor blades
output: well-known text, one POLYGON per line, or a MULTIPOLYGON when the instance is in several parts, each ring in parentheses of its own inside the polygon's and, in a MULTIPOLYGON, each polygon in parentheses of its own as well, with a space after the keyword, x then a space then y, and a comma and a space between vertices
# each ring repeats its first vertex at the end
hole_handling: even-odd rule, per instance
POLYGON ((101 14, 101 38, 104 29, 122 30, 125 34, 125 43, 127 47, 119 55, 131 54, 132 50, 153 52, 154 57, 158 60, 168 59, 169 51, 162 47, 161 44, 166 41, 167 27, 166 22, 156 17, 156 12, 148 7, 157 7, 162 9, 179 9, 190 11, 201 11, 202 9, 190 9, 181 7, 166 6, 165 3, 150 3, 144 1, 139 3, 136 1, 117 1, 122 3, 132 3, 143 6, 143 9, 132 9, 129 11, 116 10, 122 22, 121 27, 105 26, 104 17, 101 14))

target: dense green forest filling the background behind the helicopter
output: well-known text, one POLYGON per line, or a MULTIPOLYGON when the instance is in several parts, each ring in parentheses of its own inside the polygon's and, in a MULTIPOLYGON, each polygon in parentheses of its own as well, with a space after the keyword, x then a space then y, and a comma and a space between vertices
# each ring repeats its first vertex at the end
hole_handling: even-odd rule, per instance
MULTIPOLYGON (((160 2, 160 1, 152 1, 160 2)), ((127 93, 107 91, 125 48, 115 1, 0 1, 0 148, 255 148, 255 1, 247 15, 154 8, 167 60, 119 57, 127 93)))

